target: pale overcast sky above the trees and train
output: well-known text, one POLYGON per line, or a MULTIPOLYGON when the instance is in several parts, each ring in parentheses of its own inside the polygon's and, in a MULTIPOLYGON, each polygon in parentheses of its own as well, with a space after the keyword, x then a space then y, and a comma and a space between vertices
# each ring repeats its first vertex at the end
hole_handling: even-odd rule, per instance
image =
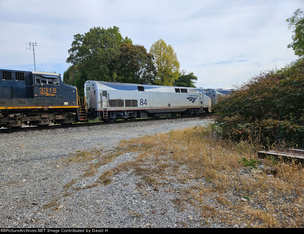
POLYGON ((26 42, 37 41, 36 71, 62 76, 74 34, 115 25, 147 50, 160 38, 171 44, 196 87, 233 88, 297 59, 285 20, 298 8, 303 0, 0 0, 0 68, 33 71, 26 42))

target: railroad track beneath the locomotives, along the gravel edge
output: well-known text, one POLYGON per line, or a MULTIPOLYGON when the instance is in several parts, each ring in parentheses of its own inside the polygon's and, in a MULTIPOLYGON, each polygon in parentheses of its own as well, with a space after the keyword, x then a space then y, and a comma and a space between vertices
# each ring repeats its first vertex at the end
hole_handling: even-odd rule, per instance
POLYGON ((155 120, 166 120, 166 119, 187 119, 187 118, 195 118, 201 117, 205 118, 211 116, 213 114, 204 114, 204 115, 192 115, 192 116, 178 116, 178 117, 163 117, 163 118, 148 118, 148 119, 135 119, 135 120, 121 120, 121 121, 114 121, 114 122, 88 122, 88 123, 74 123, 71 125, 50 125, 50 126, 33 126, 33 127, 22 127, 19 129, 11 129, 11 128, 1 128, 0 133, 12 133, 12 132, 22 132, 22 131, 34 131, 34 130, 44 130, 44 129, 57 129, 57 128, 75 128, 75 127, 82 127, 82 126, 95 126, 95 125, 104 125, 104 124, 121 124, 126 122, 146 122, 146 121, 155 121, 155 120))

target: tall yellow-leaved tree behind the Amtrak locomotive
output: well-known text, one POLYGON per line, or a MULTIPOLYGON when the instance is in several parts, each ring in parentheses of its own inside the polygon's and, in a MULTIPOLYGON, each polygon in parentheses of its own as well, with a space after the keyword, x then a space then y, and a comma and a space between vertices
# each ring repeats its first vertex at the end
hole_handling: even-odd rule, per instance
POLYGON ((150 48, 154 65, 157 69, 155 83, 158 85, 172 86, 178 78, 179 62, 171 45, 159 39, 150 48))

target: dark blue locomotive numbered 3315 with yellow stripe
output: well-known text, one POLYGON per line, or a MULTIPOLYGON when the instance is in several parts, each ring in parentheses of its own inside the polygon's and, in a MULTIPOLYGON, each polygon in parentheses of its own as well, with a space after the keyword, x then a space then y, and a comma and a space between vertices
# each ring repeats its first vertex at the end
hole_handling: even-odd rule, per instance
POLYGON ((85 121, 82 104, 60 74, 0 69, 0 127, 85 121))

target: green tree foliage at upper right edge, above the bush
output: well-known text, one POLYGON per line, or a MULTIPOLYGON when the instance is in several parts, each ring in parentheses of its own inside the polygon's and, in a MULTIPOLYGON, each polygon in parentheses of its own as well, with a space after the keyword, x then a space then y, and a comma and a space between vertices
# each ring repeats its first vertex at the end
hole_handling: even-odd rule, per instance
POLYGON ((295 55, 304 57, 304 12, 297 9, 292 17, 286 19, 286 22, 288 22, 288 30, 293 29, 292 43, 288 44, 287 48, 292 48, 295 55))

